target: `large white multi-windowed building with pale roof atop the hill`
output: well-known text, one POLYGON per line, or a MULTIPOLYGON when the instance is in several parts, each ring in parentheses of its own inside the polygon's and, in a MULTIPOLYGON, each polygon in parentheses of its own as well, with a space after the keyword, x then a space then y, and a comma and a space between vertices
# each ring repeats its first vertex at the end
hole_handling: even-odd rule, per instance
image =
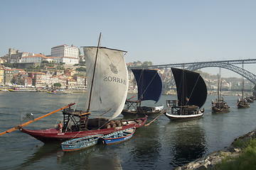
POLYGON ((74 45, 59 45, 51 48, 50 55, 53 57, 75 57, 79 59, 79 49, 74 45))

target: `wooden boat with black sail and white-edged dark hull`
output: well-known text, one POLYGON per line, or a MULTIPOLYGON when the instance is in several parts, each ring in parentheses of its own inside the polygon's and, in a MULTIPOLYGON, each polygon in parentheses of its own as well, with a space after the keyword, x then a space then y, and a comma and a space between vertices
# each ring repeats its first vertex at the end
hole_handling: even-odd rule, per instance
POLYGON ((167 106, 171 106, 171 113, 166 112, 165 115, 170 120, 202 117, 204 108, 200 108, 206 102, 207 88, 201 75, 186 69, 171 68, 171 71, 174 74, 178 101, 166 101, 167 106))

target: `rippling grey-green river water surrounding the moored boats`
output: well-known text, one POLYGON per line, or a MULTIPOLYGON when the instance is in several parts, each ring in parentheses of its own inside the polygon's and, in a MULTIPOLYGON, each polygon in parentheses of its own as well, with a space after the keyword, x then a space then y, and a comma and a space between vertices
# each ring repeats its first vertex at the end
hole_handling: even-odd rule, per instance
MULTIPOLYGON (((166 99, 175 98, 164 95, 156 105, 163 104, 166 108, 166 99)), ((235 106, 238 97, 225 96, 230 113, 211 113, 212 99, 215 96, 208 96, 203 106, 206 110, 203 118, 171 122, 161 115, 148 127, 137 129, 126 142, 107 147, 96 145, 78 152, 63 153, 60 144, 44 145, 16 130, 0 136, 0 169, 173 169, 228 147, 236 137, 255 130, 256 102, 239 110, 235 106)), ((73 102, 75 109, 82 109, 85 94, 1 91, 0 132, 19 125, 26 113, 38 118, 73 102)), ((100 113, 93 113, 92 117, 97 115, 100 113)), ((147 123, 153 119, 149 117, 147 123)), ((58 120, 62 120, 61 112, 31 123, 26 129, 53 128, 58 120)))

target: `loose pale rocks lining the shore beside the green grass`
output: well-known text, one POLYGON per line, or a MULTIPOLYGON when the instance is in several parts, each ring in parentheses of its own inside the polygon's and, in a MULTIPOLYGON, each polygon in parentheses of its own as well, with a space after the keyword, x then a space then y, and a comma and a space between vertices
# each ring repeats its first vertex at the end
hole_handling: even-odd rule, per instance
MULTIPOLYGON (((247 134, 236 138, 234 142, 237 140, 241 140, 241 142, 246 142, 247 140, 250 140, 250 137, 254 138, 255 135, 256 135, 256 130, 253 130, 252 132, 248 132, 247 134)), ((225 157, 230 157, 230 158, 238 157, 241 153, 241 149, 238 147, 234 147, 233 143, 229 147, 225 147, 224 149, 208 154, 206 157, 201 157, 183 166, 178 166, 175 168, 175 170, 183 170, 183 169, 199 170, 199 169, 213 168, 216 164, 219 164, 220 162, 222 162, 222 160, 225 157)))

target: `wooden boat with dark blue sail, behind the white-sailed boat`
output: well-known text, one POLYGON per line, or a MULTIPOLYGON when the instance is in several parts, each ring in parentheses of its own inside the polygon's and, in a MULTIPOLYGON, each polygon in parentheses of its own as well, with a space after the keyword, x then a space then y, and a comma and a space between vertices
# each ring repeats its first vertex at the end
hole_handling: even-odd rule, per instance
POLYGON ((138 100, 127 99, 126 108, 122 115, 154 115, 160 113, 164 106, 142 106, 142 101, 159 101, 161 98, 163 84, 159 73, 155 69, 132 69, 137 81, 138 100))

